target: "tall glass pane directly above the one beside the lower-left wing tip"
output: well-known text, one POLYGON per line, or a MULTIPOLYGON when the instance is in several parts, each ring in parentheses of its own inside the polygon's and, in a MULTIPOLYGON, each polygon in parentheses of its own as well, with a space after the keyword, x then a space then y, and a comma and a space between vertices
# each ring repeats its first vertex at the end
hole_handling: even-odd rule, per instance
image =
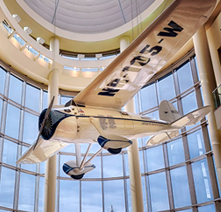
POLYGON ((18 139, 20 109, 8 104, 5 134, 18 139))

